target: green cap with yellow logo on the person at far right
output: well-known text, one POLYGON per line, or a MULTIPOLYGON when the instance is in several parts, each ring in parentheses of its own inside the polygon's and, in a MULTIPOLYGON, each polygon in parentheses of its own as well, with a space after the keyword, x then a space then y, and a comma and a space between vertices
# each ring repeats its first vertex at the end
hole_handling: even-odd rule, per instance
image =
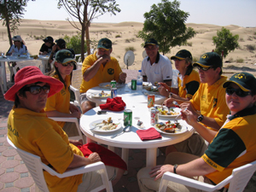
POLYGON ((237 84, 244 91, 256 91, 256 79, 251 73, 236 73, 223 84, 223 87, 227 88, 230 83, 237 84))

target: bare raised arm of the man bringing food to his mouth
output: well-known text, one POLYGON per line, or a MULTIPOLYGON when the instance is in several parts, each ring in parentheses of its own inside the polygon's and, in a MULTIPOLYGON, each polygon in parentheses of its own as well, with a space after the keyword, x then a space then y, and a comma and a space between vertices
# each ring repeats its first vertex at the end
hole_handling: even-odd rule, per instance
POLYGON ((93 63, 91 67, 86 69, 86 71, 83 74, 84 81, 90 81, 90 79, 92 79, 96 75, 101 65, 107 63, 108 61, 110 61, 109 55, 101 56, 97 61, 95 61, 95 63, 93 63))

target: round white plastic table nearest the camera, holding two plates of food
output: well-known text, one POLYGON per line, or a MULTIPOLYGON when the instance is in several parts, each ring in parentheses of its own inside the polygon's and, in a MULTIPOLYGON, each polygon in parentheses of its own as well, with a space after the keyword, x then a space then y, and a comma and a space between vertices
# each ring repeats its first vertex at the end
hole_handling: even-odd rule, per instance
MULTIPOLYGON (((111 138, 114 134, 117 134, 122 131, 119 129, 113 132, 98 132, 90 130, 90 123, 94 122, 98 119, 108 119, 111 117, 112 119, 120 119, 120 122, 123 125, 124 119, 124 111, 121 112, 113 112, 108 111, 106 114, 97 114, 97 111, 101 110, 101 108, 96 107, 90 109, 90 111, 84 113, 84 115, 80 119, 80 129, 87 137, 87 143, 91 141, 96 141, 97 143, 103 143, 108 145, 108 148, 113 150, 114 147, 122 148, 122 159, 125 160, 128 165, 128 152, 129 148, 146 148, 147 149, 147 157, 146 157, 146 166, 155 166, 156 158, 157 158, 157 148, 172 145, 175 143, 180 143, 183 140, 189 138, 194 133, 194 128, 190 125, 187 125, 185 121, 179 119, 183 125, 188 127, 188 131, 177 134, 177 135, 169 135, 161 133, 162 138, 142 141, 140 137, 137 135, 137 120, 138 118, 143 121, 143 125, 145 125, 144 129, 148 129, 152 127, 150 125, 150 113, 148 111, 148 107, 146 103, 136 103, 136 104, 128 104, 126 108, 132 110, 132 126, 130 132, 125 132, 118 137, 111 138)), ((160 117, 160 120, 168 120, 170 118, 160 117)), ((173 118, 172 118, 173 119, 173 118)), ((124 126, 123 126, 124 127, 124 126)))

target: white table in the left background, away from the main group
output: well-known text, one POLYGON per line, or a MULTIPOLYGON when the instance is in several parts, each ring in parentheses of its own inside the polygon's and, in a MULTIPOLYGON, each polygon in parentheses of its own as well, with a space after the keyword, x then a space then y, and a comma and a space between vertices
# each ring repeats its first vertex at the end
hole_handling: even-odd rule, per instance
MULTIPOLYGON (((32 60, 32 58, 27 58, 27 57, 17 57, 17 56, 6 56, 5 58, 0 57, 0 63, 1 63, 1 68, 2 68, 2 74, 1 76, 3 77, 3 90, 7 90, 7 79, 6 79, 6 68, 5 68, 5 62, 19 62, 19 61, 27 61, 27 60, 32 60)), ((12 75, 13 72, 10 71, 10 74, 12 75)))

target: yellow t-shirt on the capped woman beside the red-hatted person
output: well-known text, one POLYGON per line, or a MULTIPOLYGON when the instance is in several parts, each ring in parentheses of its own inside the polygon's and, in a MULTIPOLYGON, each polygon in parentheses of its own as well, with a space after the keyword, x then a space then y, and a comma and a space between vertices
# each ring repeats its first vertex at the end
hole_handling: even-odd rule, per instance
MULTIPOLYGON (((53 77, 54 79, 59 79, 58 75, 55 75, 53 77)), ((49 96, 45 105, 44 110, 45 111, 58 111, 61 113, 70 113, 69 107, 70 107, 70 92, 69 92, 69 86, 70 86, 70 78, 71 76, 68 75, 65 79, 65 86, 63 86, 62 90, 58 93, 56 93, 54 96, 49 96)), ((65 125, 65 122, 57 122, 61 127, 65 125)))

